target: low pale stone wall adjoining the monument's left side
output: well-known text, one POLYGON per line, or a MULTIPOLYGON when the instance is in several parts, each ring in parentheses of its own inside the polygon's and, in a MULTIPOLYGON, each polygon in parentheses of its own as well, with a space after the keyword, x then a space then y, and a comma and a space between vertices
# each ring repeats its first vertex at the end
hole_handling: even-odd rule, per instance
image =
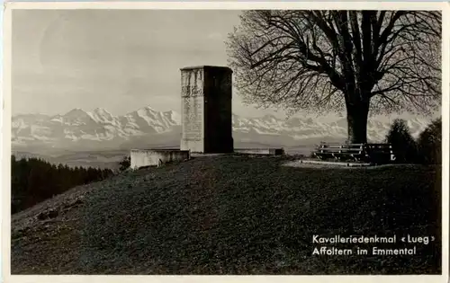
POLYGON ((131 149, 130 168, 139 169, 147 166, 160 166, 162 164, 183 161, 191 158, 189 150, 179 149, 131 149))

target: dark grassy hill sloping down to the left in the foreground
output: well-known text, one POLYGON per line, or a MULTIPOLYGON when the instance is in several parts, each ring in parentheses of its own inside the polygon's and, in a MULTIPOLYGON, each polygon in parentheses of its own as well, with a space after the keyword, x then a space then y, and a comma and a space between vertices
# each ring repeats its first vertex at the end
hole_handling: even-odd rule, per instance
POLYGON ((440 168, 294 168, 287 158, 204 156, 76 187, 13 215, 12 273, 441 272, 440 168), (437 238, 409 256, 325 256, 311 254, 329 246, 314 234, 437 238))

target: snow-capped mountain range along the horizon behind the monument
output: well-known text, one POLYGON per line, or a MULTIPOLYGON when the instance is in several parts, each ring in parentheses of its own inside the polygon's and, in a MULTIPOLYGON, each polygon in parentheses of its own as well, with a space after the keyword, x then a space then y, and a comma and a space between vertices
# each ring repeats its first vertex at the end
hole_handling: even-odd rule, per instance
MULTIPOLYGON (((369 119, 368 138, 383 141, 392 121, 369 119)), ((12 119, 14 148, 45 146, 98 150, 145 146, 178 146, 181 116, 175 111, 144 107, 123 116, 98 108, 92 112, 74 109, 64 115, 16 115, 12 119)), ((428 119, 409 119, 414 136, 428 126, 428 119)), ((233 115, 235 146, 306 146, 321 140, 344 140, 347 120, 320 122, 311 117, 278 119, 272 115, 244 118, 233 115)))

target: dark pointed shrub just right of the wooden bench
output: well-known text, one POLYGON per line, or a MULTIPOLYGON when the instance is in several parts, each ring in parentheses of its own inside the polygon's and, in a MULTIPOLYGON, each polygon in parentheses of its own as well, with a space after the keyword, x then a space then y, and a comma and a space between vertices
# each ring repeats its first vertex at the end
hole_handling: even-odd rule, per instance
POLYGON ((404 119, 393 121, 386 136, 386 142, 392 145, 396 162, 415 163, 418 161, 418 146, 404 119))

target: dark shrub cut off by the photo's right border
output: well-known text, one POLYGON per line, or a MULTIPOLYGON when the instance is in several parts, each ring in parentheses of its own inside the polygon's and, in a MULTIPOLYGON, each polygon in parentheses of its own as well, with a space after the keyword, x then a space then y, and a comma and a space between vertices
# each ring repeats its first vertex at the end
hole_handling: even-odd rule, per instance
POLYGON ((432 121, 418 138, 419 158, 424 164, 441 164, 442 119, 432 121))

